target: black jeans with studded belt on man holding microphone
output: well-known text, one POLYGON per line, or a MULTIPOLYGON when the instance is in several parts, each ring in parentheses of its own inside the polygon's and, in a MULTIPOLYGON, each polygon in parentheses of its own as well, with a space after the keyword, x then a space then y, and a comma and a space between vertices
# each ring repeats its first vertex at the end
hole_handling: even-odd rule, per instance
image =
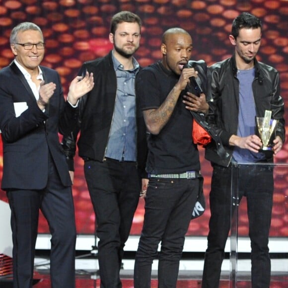
POLYGON ((197 200, 199 182, 199 178, 149 179, 144 225, 135 259, 135 288, 150 287, 151 266, 160 241, 158 287, 176 287, 185 234, 197 200))

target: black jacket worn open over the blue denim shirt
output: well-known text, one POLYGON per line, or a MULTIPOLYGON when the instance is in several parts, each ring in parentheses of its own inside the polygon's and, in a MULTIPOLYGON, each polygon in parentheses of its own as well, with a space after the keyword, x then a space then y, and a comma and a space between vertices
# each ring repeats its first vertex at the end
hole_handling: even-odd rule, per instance
MULTIPOLYGON (((79 130, 78 153, 82 158, 103 161, 108 143, 110 128, 114 115, 117 92, 117 78, 113 67, 112 51, 103 58, 83 64, 81 72, 93 72, 94 87, 79 100, 78 126, 62 140, 69 169, 73 169, 73 157, 79 130)), ((145 164, 147 156, 146 126, 142 111, 138 107, 136 96, 137 121, 137 164, 142 178, 146 177, 145 164)))

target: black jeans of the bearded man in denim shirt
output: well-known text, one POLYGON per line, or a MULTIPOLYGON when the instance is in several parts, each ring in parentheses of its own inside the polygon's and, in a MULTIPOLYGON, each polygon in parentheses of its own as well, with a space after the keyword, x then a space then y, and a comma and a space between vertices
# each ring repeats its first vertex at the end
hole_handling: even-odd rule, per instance
POLYGON ((101 288, 122 287, 120 268, 141 191, 135 162, 85 161, 85 178, 96 215, 101 288))

